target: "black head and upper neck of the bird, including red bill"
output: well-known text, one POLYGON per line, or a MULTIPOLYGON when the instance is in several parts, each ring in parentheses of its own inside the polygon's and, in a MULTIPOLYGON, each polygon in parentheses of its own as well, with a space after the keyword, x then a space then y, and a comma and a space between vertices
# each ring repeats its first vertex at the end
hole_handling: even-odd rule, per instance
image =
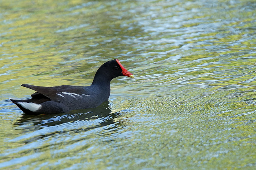
POLYGON ((128 70, 122 66, 118 59, 111 60, 102 64, 100 68, 98 68, 92 83, 100 81, 110 82, 113 78, 118 76, 128 76, 134 78, 132 73, 128 72, 128 70))

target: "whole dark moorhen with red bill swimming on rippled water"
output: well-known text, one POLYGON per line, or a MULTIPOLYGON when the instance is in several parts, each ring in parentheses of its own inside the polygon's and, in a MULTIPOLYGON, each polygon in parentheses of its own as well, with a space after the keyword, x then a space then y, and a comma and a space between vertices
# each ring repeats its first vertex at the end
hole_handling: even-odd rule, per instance
POLYGON ((29 115, 66 113, 76 109, 94 108, 108 100, 110 81, 118 76, 134 78, 132 73, 122 66, 118 59, 102 64, 90 86, 34 86, 22 84, 35 93, 30 99, 10 99, 24 113, 29 115))

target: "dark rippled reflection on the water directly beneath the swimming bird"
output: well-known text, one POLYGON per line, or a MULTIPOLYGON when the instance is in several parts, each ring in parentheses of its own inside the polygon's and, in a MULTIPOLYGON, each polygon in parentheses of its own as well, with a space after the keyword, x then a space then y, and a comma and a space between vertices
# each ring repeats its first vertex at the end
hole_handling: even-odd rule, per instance
MULTIPOLYGON (((115 118, 118 114, 111 111, 110 104, 104 102, 100 106, 92 109, 80 109, 70 111, 69 113, 60 113, 57 115, 27 115, 23 114, 20 120, 14 125, 18 129, 42 129, 43 127, 50 127, 61 125, 63 123, 78 123, 79 121, 94 121, 91 128, 101 127, 115 123, 115 118), (27 126, 26 126, 27 125, 27 126)), ((87 129, 87 128, 86 128, 87 129)))

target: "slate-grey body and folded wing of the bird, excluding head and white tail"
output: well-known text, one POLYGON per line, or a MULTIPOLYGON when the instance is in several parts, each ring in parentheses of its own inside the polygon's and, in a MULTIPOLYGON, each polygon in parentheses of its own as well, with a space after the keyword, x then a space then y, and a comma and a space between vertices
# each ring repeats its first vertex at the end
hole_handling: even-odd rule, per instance
MULTIPOLYGON (((110 85, 103 87, 97 84, 86 87, 63 85, 51 87, 50 89, 49 87, 28 84, 23 84, 22 86, 36 91, 36 93, 32 94, 33 98, 37 98, 36 95, 44 94, 50 99, 41 103, 42 108, 37 111, 46 114, 49 112, 64 113, 76 109, 94 108, 107 101, 110 96, 110 85)), ((28 102, 37 103, 33 98, 28 102)))

